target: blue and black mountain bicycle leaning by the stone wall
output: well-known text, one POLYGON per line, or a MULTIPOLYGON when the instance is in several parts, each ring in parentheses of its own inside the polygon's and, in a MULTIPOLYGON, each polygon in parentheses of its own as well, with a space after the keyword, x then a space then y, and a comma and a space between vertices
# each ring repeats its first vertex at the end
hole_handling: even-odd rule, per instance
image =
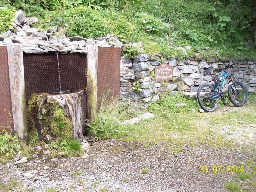
POLYGON ((219 76, 216 80, 212 76, 210 67, 204 67, 204 75, 211 75, 212 80, 215 84, 213 87, 211 84, 202 84, 199 86, 197 91, 197 100, 199 105, 207 112, 213 112, 218 107, 219 98, 224 101, 223 86, 227 79, 228 81, 228 97, 230 101, 237 107, 244 105, 246 101, 246 90, 244 85, 240 81, 233 80, 233 78, 226 72, 228 68, 232 68, 232 65, 228 65, 224 68, 213 70, 215 71, 224 71, 224 73, 219 76), (231 81, 230 81, 231 80, 231 81))

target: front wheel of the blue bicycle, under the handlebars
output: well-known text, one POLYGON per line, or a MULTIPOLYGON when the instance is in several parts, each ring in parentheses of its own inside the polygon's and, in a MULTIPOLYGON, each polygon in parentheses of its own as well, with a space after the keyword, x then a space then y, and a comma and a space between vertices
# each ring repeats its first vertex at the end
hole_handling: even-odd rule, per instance
POLYGON ((236 107, 241 107, 246 101, 246 90, 240 81, 234 83, 228 86, 228 97, 236 107))

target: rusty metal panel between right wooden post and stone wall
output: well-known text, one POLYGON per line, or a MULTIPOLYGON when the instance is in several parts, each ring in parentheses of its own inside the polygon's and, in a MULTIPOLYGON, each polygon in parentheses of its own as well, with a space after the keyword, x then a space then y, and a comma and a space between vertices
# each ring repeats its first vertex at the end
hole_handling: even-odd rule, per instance
POLYGON ((120 94, 120 60, 122 48, 98 48, 97 98, 100 98, 106 85, 113 89, 113 96, 120 94))

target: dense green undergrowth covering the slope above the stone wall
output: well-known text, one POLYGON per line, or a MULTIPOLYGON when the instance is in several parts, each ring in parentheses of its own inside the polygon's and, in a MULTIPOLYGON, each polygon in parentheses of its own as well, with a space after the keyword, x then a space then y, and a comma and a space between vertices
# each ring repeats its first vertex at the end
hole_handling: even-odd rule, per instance
POLYGON ((113 33, 123 43, 142 41, 144 52, 152 56, 161 53, 178 60, 191 55, 255 58, 256 3, 236 3, 237 0, 11 0, 0 4, 5 9, 0 28, 12 28, 13 10, 22 9, 27 17, 38 18, 33 27, 41 31, 62 27, 68 36, 86 38, 113 33))

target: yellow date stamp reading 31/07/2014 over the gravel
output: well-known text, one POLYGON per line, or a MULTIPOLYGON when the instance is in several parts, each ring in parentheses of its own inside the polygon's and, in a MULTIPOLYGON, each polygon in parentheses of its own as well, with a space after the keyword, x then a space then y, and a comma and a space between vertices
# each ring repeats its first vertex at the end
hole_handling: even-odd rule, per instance
POLYGON ((200 166, 200 173, 243 173, 243 166, 200 166))

